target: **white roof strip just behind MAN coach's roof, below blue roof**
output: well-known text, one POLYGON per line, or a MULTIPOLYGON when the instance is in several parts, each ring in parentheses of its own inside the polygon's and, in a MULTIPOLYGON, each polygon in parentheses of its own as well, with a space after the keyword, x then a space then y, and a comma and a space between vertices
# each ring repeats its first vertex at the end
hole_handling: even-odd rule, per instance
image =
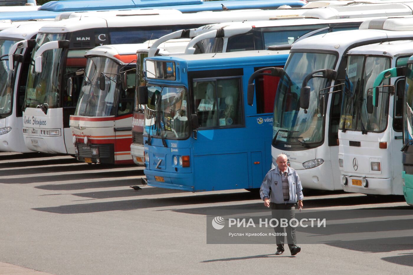
POLYGON ((128 10, 105 10, 105 11, 84 11, 84 12, 64 12, 55 18, 55 21, 76 18, 76 17, 111 17, 111 16, 134 16, 134 15, 159 15, 159 14, 182 14, 178 9, 128 9, 128 10))

